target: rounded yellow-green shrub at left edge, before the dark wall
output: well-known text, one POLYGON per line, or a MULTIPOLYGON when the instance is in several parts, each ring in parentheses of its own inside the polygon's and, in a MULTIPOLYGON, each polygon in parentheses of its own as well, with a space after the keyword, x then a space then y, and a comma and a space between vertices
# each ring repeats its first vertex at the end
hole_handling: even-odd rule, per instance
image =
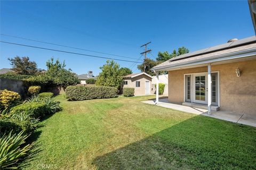
POLYGON ((11 108, 18 105, 20 102, 20 95, 17 92, 9 90, 0 91, 0 109, 11 108))

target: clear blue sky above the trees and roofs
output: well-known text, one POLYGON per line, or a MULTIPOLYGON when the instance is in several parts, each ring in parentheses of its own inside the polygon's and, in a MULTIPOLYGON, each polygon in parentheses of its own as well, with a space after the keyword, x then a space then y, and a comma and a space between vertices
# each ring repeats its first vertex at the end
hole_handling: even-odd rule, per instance
MULTIPOLYGON (((155 58, 158 51, 185 46, 193 52, 253 36, 254 30, 247 1, 1 1, 1 33, 133 58, 140 58, 140 46, 151 41, 148 57, 155 58)), ((131 60, 5 36, 1 40, 131 60)), ((10 67, 7 58, 17 55, 29 56, 41 69, 51 57, 59 58, 77 74, 91 70, 98 75, 106 63, 100 58, 0 45, 1 68, 10 67)), ((139 72, 133 63, 117 62, 139 72)))

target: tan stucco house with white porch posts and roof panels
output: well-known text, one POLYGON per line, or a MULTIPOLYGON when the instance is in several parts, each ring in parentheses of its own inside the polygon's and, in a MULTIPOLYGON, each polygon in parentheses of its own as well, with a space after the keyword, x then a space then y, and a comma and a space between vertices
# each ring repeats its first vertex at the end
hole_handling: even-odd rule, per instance
MULTIPOLYGON (((256 37, 183 54, 153 69, 168 71, 168 99, 187 106, 256 115, 256 37)), ((158 96, 157 100, 158 102, 158 96)))

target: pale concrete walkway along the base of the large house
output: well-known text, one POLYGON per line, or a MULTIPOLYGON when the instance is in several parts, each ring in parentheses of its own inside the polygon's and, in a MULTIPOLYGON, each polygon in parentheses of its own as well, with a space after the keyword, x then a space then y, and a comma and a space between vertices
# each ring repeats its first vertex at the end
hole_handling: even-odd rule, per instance
MULTIPOLYGON (((147 101, 141 101, 142 103, 154 105, 155 100, 147 100, 147 101)), ((246 115, 246 114, 236 114, 233 112, 224 112, 224 111, 218 111, 218 112, 212 112, 211 115, 207 114, 207 110, 200 109, 200 108, 194 108, 189 106, 183 106, 178 104, 172 104, 168 101, 168 99, 159 99, 159 102, 157 106, 165 107, 165 108, 171 108, 182 112, 188 112, 188 113, 194 113, 198 115, 203 116, 209 116, 213 118, 218 118, 221 120, 234 122, 234 123, 240 123, 245 125, 250 125, 256 127, 256 116, 252 115, 246 115)))

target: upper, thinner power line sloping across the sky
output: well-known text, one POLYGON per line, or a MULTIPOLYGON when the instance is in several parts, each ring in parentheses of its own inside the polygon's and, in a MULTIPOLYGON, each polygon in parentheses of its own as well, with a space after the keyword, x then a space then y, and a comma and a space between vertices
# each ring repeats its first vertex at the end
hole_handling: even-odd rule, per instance
POLYGON ((130 59, 137 60, 137 58, 133 58, 133 57, 126 57, 126 56, 122 56, 122 55, 115 55, 115 54, 110 54, 110 53, 97 52, 97 51, 90 50, 90 49, 84 49, 84 48, 77 48, 77 47, 65 46, 65 45, 55 44, 55 43, 47 43, 47 42, 45 42, 45 41, 39 41, 39 40, 35 40, 35 39, 30 39, 30 38, 23 38, 23 37, 18 37, 18 36, 12 36, 12 35, 4 34, 4 33, 1 33, 0 35, 6 36, 6 37, 13 37, 13 38, 25 39, 25 40, 29 40, 29 41, 35 41, 35 42, 38 42, 38 43, 51 44, 51 45, 60 46, 60 47, 68 47, 68 48, 73 48, 73 49, 79 49, 79 50, 84 50, 84 51, 87 51, 87 52, 93 52, 93 53, 99 53, 99 54, 107 54, 107 55, 113 55, 113 56, 117 56, 117 57, 130 58, 130 59))

